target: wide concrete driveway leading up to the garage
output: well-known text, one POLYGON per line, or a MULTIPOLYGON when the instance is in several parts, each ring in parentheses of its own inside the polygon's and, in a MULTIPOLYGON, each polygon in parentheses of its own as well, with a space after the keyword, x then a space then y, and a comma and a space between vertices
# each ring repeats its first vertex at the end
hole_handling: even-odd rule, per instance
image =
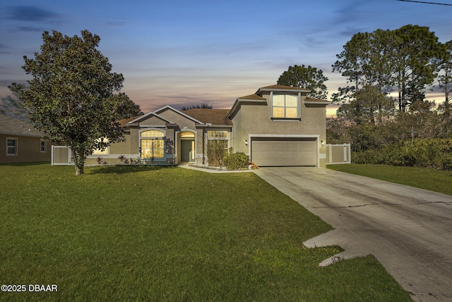
POLYGON ((304 242, 345 250, 321 265, 372 254, 414 301, 452 301, 451 196, 322 168, 255 173, 335 228, 304 242))

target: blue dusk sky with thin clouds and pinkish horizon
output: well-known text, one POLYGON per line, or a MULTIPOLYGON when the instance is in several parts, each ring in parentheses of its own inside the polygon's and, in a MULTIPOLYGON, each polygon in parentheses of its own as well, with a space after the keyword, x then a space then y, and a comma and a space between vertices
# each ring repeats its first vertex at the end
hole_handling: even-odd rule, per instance
MULTIPOLYGON (((441 0, 452 4, 452 0, 441 0)), ((0 8, 0 97, 25 81, 23 55, 40 51, 44 30, 100 35, 99 50, 124 75, 144 112, 162 105, 230 108, 273 85, 289 66, 323 70, 328 95, 345 86, 331 73, 358 32, 428 26, 452 40, 452 6, 397 0, 4 1, 0 8)))

